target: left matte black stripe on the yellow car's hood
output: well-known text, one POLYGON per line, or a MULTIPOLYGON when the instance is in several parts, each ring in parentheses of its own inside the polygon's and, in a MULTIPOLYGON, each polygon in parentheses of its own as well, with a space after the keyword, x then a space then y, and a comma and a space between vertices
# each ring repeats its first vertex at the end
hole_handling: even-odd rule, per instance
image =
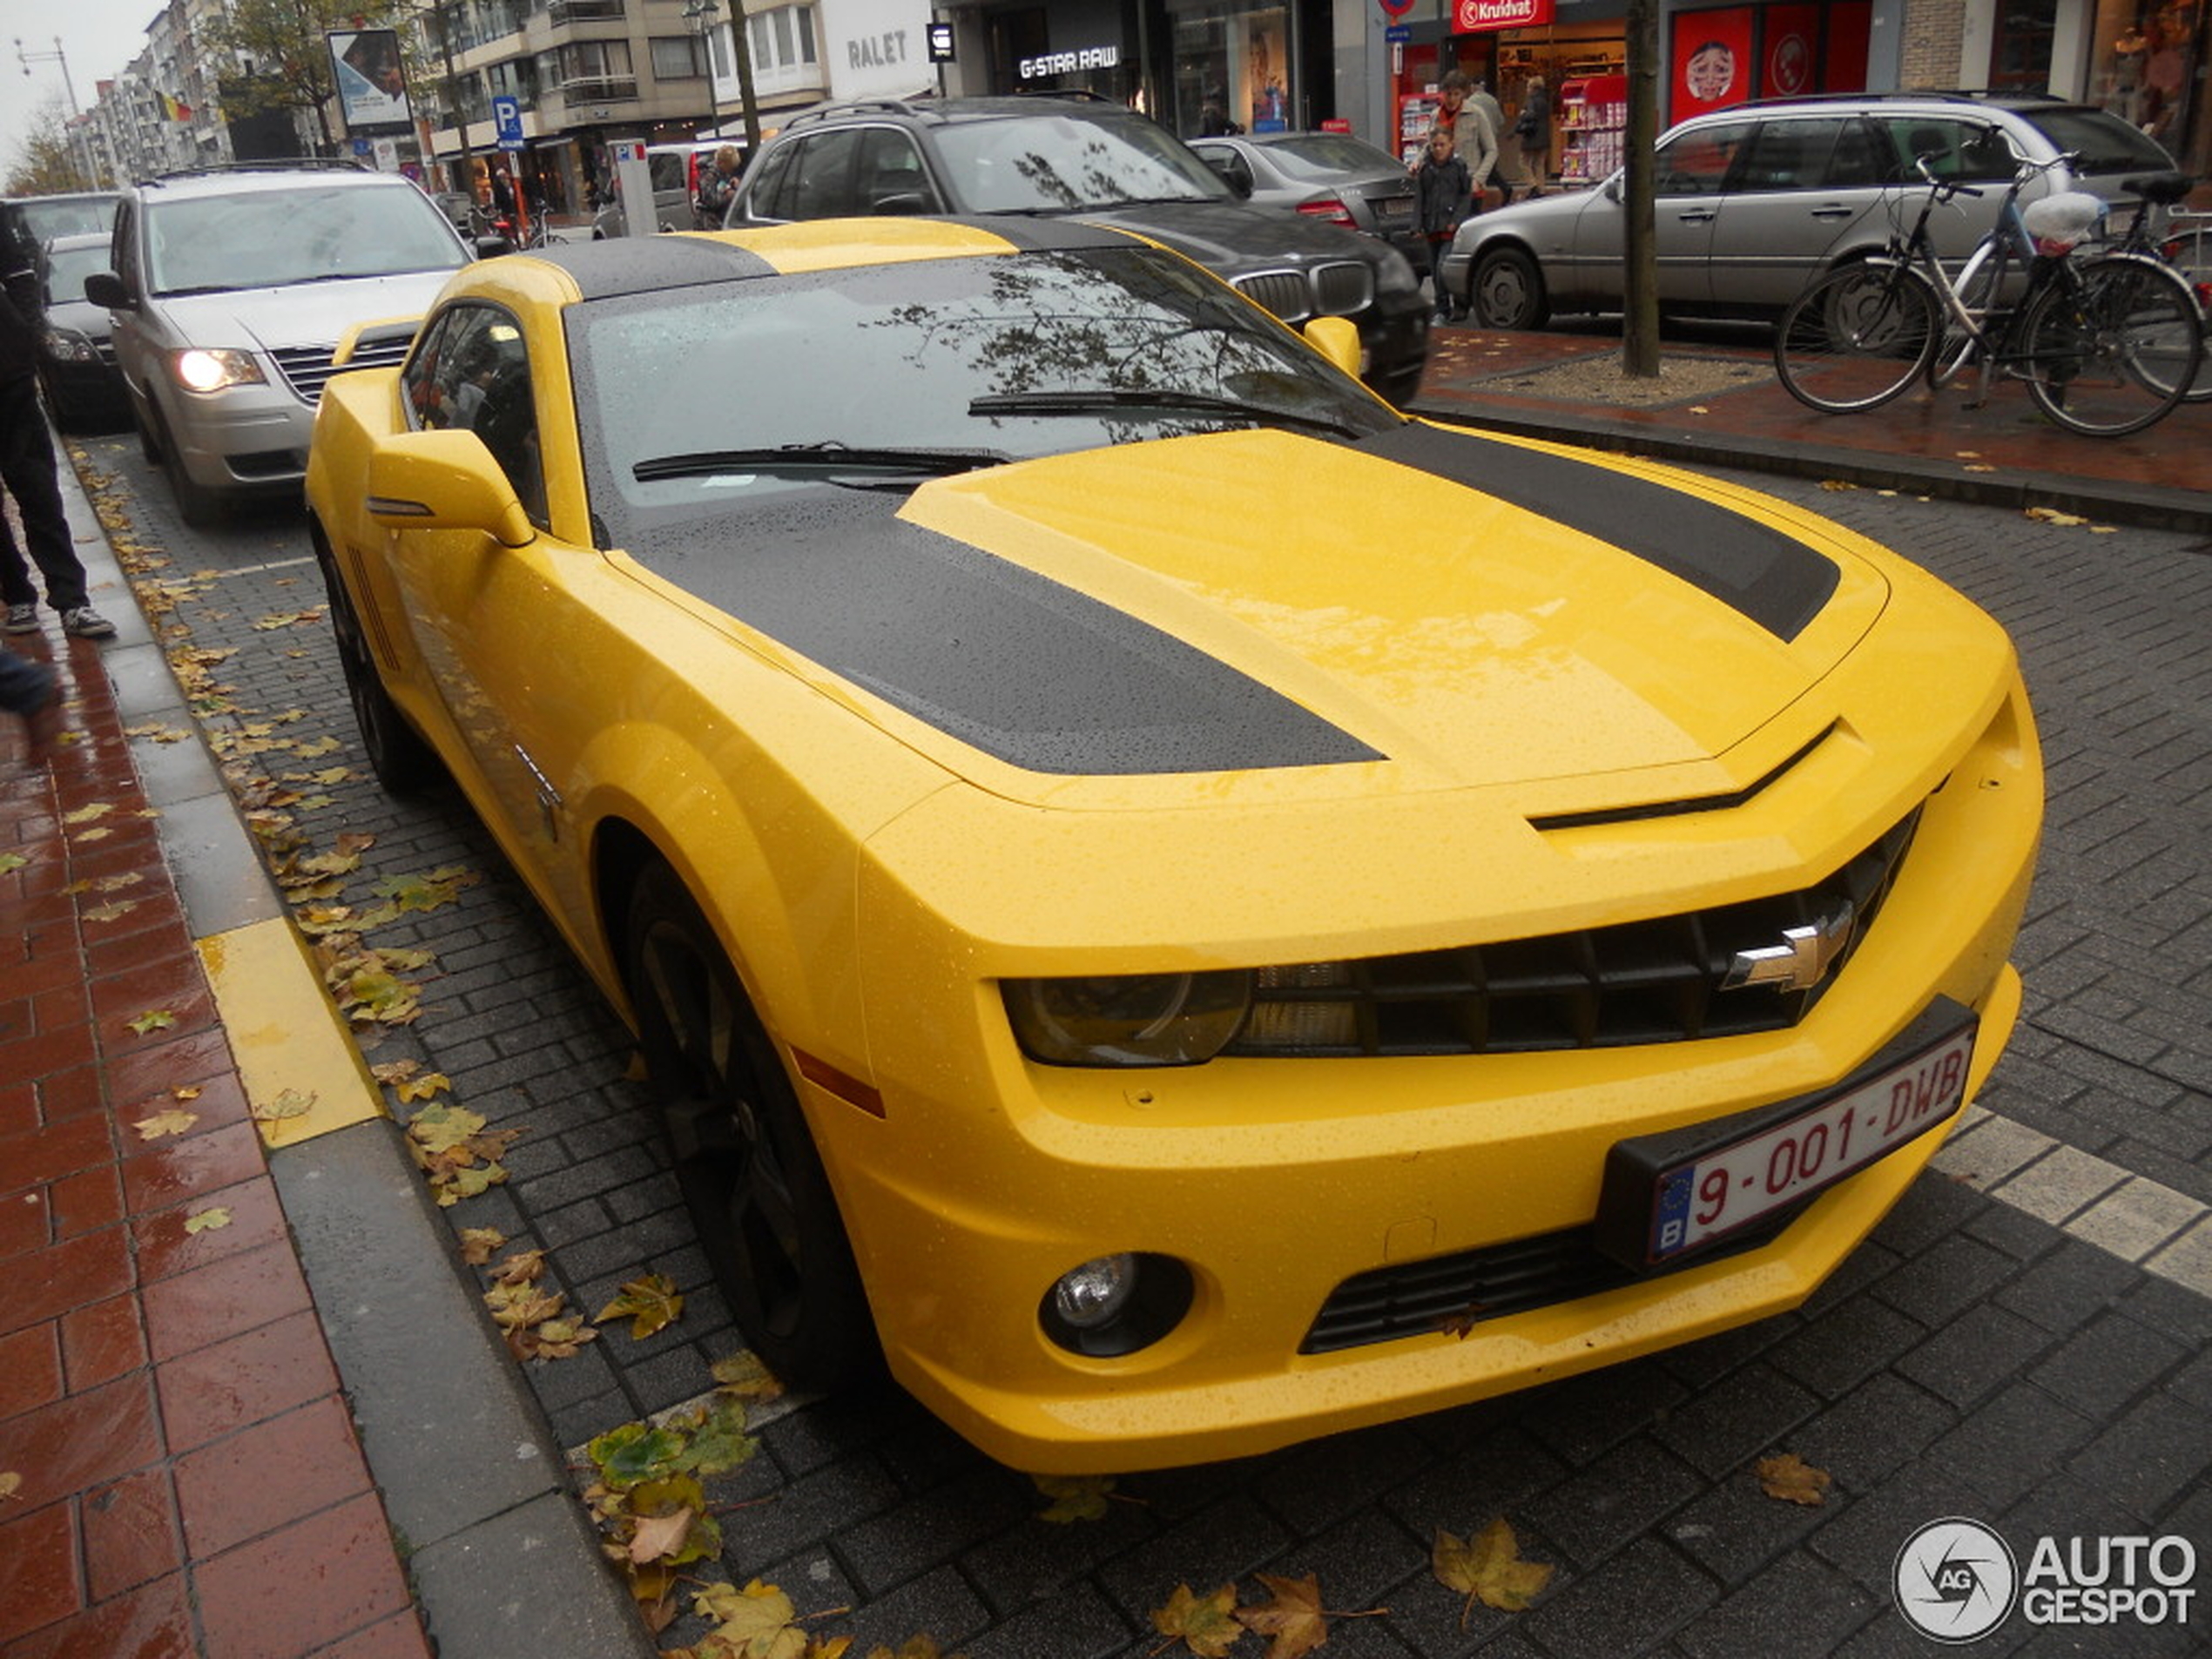
POLYGON ((902 495, 805 491, 650 535, 630 555, 916 719, 1029 772, 1378 761, 1279 692, 1097 599, 896 518, 902 495))

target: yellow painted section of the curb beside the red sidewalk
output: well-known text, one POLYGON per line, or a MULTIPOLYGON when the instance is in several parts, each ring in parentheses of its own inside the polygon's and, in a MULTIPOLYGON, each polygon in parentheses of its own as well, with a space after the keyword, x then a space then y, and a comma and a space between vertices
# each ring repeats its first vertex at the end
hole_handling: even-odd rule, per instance
POLYGON ((197 947, 265 1146, 387 1115, 292 922, 252 922, 197 947))

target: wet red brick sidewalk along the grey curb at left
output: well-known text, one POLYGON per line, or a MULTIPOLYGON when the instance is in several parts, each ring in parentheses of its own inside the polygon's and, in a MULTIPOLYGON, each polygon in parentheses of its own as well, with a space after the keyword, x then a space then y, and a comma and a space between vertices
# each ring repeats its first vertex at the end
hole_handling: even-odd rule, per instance
POLYGON ((427 1655, 102 653, 11 644, 66 739, 0 728, 0 1655, 427 1655))

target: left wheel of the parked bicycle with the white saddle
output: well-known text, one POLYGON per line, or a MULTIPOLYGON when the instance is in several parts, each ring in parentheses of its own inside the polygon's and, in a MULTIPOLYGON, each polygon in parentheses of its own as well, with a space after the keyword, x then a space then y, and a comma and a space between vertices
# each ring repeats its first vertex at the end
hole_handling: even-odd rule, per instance
POLYGON ((1790 301, 1774 372, 1798 403, 1854 414, 1918 380, 1940 336, 1936 294, 1920 272, 1887 261, 1843 265, 1790 301))

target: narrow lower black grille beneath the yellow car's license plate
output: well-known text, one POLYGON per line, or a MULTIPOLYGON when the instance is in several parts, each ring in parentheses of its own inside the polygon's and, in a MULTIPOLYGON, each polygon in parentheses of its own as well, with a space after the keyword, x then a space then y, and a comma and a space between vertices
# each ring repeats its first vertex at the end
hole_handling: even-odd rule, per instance
POLYGON ((1590 1228, 1566 1228, 1535 1239, 1462 1250, 1429 1261, 1407 1261, 1354 1274, 1329 1292, 1301 1354, 1334 1354, 1345 1347, 1394 1343, 1427 1332, 1467 1334, 1471 1325, 1531 1307, 1553 1307, 1646 1279, 1663 1279, 1683 1267, 1759 1250, 1796 1219, 1796 1206, 1736 1234, 1721 1250, 1703 1250, 1646 1272, 1630 1272, 1590 1243, 1590 1228))

